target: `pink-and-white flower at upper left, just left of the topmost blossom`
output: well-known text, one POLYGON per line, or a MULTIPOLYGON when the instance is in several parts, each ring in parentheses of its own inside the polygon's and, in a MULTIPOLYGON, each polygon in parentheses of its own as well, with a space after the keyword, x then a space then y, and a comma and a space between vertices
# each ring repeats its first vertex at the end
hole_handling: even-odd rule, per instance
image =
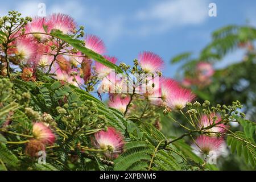
POLYGON ((26 34, 30 34, 30 33, 34 33, 34 32, 38 32, 38 33, 43 33, 43 34, 31 34, 30 36, 34 36, 34 38, 44 41, 48 38, 48 35, 44 35, 46 33, 49 33, 49 31, 46 32, 46 30, 44 30, 44 27, 46 26, 46 30, 51 30, 52 29, 52 23, 51 22, 46 22, 46 18, 42 18, 42 17, 38 17, 36 16, 32 22, 29 22, 25 29, 25 33, 26 34))

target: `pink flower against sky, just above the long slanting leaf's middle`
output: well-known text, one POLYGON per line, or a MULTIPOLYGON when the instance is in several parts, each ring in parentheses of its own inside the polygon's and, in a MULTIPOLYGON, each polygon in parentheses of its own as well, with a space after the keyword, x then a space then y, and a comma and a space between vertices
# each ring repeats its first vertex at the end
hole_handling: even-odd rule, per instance
POLYGON ((95 35, 86 35, 85 36, 85 47, 91 49, 98 54, 102 54, 106 52, 104 42, 95 35))

